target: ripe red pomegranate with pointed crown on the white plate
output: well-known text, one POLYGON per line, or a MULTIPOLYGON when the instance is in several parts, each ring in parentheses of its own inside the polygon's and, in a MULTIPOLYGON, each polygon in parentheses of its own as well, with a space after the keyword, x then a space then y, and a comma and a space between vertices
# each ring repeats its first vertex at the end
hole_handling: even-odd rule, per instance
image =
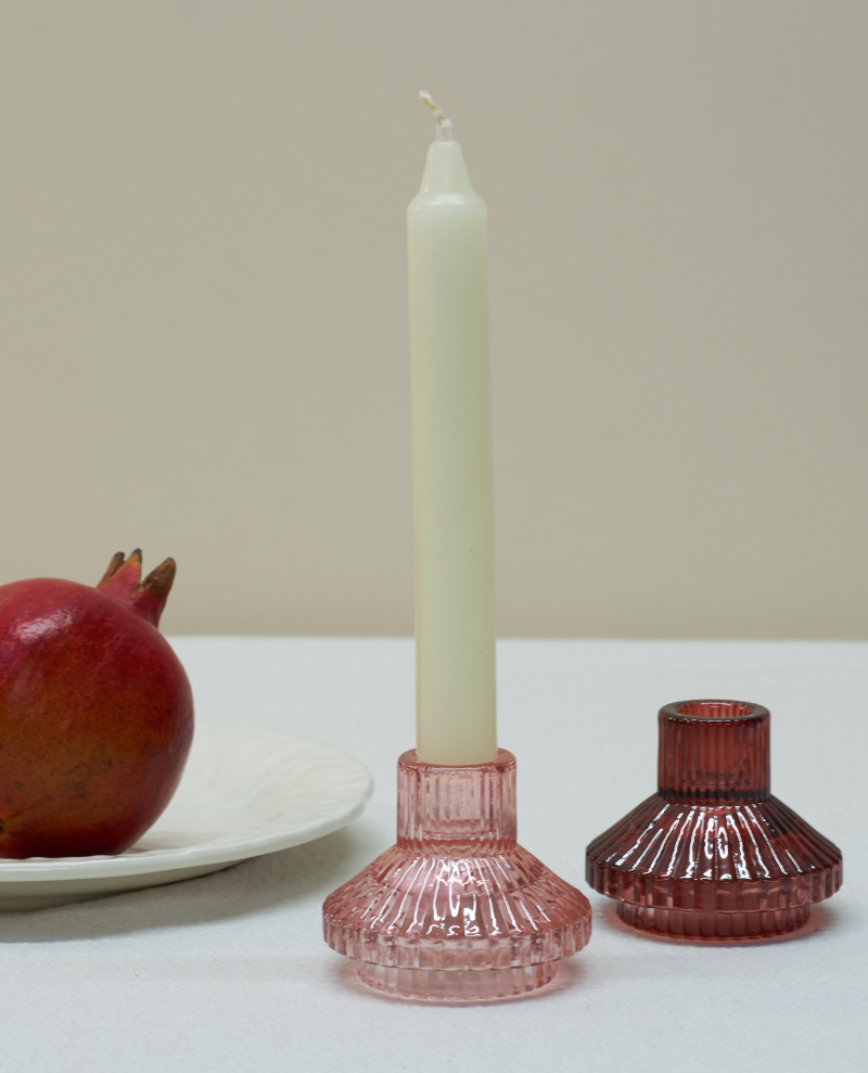
POLYGON ((193 697, 157 629, 175 561, 141 566, 0 586, 0 857, 119 853, 180 781, 193 697))

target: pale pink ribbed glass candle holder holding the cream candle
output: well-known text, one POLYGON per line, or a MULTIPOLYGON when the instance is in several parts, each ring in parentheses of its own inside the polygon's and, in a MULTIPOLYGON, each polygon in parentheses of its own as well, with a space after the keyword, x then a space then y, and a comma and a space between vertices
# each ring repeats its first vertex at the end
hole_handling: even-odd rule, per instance
POLYGON ((322 907, 326 942, 371 987, 480 1002, 547 984, 590 937, 590 905, 515 841, 515 757, 398 759, 398 841, 322 907))

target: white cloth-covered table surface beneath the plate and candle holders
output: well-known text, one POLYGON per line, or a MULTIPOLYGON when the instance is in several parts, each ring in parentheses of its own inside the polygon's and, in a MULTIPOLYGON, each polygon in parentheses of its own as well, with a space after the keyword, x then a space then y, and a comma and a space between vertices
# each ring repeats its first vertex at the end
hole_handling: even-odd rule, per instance
POLYGON ((409 640, 175 638, 201 718, 340 745, 376 790, 343 831, 184 883, 0 916, 3 1068, 89 1071, 868 1069, 868 644, 505 641, 499 737, 519 838, 588 893, 584 848, 654 789, 656 711, 773 714, 774 791, 844 853, 799 937, 641 937, 590 894, 590 945, 538 995, 437 1007, 367 992, 320 906, 394 842, 413 743, 409 640))

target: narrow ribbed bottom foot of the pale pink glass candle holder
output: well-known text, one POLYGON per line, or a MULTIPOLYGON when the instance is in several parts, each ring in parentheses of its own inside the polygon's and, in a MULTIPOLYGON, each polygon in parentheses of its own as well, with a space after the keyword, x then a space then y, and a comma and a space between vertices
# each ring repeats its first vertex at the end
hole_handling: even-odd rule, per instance
POLYGON ((511 969, 452 970, 395 969, 370 961, 356 962, 362 983, 398 998, 435 1002, 496 1002, 545 987, 558 974, 558 962, 511 969))

